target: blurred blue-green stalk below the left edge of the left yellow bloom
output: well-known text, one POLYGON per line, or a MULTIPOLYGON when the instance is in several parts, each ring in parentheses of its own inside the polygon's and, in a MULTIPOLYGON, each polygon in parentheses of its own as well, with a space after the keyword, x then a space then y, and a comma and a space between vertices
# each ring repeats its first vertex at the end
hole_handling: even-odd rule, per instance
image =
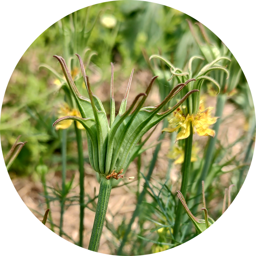
POLYGON ((67 129, 64 129, 62 132, 61 140, 61 162, 62 162, 62 192, 60 200, 60 238, 62 237, 62 226, 63 226, 63 214, 66 201, 66 162, 67 162, 67 129))

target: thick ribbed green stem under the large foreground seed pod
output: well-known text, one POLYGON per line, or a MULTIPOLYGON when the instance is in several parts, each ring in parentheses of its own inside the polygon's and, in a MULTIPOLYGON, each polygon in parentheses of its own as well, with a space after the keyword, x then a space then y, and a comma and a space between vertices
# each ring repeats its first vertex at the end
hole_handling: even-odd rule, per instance
POLYGON ((105 175, 100 174, 100 191, 98 197, 98 203, 92 228, 91 239, 88 247, 90 252, 98 252, 100 244, 100 236, 104 226, 106 212, 108 208, 108 200, 112 188, 112 178, 106 179, 105 175))

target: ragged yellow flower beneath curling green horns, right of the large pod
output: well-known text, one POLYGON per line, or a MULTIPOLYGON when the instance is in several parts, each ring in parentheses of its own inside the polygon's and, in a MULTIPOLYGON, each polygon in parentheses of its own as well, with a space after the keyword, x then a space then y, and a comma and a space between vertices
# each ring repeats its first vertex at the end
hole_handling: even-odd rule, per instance
POLYGON ((218 117, 211 117, 212 107, 204 109, 203 103, 200 104, 199 112, 197 115, 188 114, 185 116, 181 111, 181 108, 177 108, 173 112, 173 117, 168 118, 170 128, 164 128, 162 132, 177 132, 180 129, 180 132, 177 135, 177 140, 182 140, 188 138, 190 134, 189 125, 192 122, 193 133, 196 132, 199 136, 215 136, 215 132, 209 128, 210 125, 215 124, 218 117))

